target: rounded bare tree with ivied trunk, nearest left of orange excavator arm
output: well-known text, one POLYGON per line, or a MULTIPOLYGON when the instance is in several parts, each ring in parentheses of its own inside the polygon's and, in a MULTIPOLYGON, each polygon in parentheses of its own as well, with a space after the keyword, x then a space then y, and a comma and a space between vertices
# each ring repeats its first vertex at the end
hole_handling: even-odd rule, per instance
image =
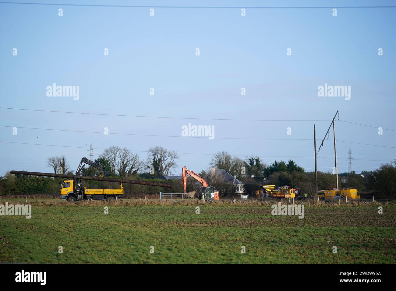
POLYGON ((162 146, 154 146, 148 149, 147 165, 152 166, 158 175, 168 175, 169 171, 177 167, 176 160, 179 154, 174 150, 167 150, 162 146))

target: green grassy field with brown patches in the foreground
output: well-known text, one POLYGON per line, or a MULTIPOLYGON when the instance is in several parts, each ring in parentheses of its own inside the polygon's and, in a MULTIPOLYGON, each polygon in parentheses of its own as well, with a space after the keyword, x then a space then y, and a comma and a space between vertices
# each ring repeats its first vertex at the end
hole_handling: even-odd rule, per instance
MULTIPOLYGON (((5 201, 25 203, 4 197, 0 203, 5 201)), ((0 262, 396 263, 396 205, 391 204, 306 203, 304 219, 272 216, 272 203, 36 199, 29 204, 31 219, 0 216, 0 262)))

